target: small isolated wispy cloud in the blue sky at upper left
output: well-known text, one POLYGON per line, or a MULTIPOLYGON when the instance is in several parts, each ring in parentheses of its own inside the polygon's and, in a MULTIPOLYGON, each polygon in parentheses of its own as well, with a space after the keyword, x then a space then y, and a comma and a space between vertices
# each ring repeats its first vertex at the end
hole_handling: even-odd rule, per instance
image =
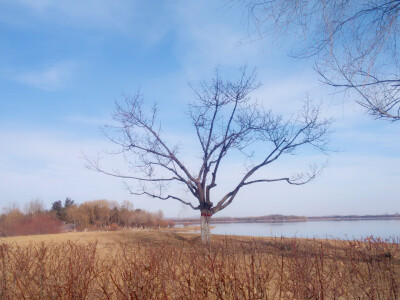
POLYGON ((34 88, 52 91, 67 86, 76 70, 76 63, 62 62, 37 70, 21 72, 13 76, 13 79, 34 88))

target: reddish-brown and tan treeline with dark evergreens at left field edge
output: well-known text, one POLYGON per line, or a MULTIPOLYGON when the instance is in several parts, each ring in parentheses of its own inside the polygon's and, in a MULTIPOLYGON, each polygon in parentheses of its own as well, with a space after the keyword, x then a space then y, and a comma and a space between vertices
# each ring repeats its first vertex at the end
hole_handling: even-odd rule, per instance
POLYGON ((134 209, 129 201, 120 205, 116 201, 94 200, 78 205, 67 198, 64 203, 53 202, 51 209, 46 210, 42 201, 34 200, 22 210, 16 205, 4 208, 0 215, 0 236, 167 226, 173 226, 173 222, 165 220, 161 211, 134 209))

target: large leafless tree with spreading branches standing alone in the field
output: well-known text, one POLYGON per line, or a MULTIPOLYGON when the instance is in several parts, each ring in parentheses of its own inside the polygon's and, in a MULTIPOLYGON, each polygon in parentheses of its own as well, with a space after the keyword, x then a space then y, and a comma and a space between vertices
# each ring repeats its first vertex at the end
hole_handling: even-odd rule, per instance
MULTIPOLYGON (((252 101, 250 93, 259 87, 255 73, 242 69, 240 78, 223 81, 218 70, 210 82, 193 88, 195 100, 189 105, 189 117, 199 142, 200 164, 195 172, 180 158, 179 146, 171 146, 157 123, 157 108, 150 113, 143 108, 140 94, 126 97, 124 106, 117 104, 114 120, 119 126, 105 128, 106 136, 121 148, 134 175, 117 170, 107 171, 99 159, 89 159, 92 170, 135 182, 127 185, 133 195, 143 195, 161 200, 174 199, 201 213, 202 241, 210 239, 211 216, 226 208, 239 191, 257 183, 284 181, 301 185, 314 179, 320 168, 291 177, 257 177, 259 170, 299 148, 311 146, 324 151, 327 143, 329 120, 320 120, 320 112, 309 103, 292 120, 284 121, 271 111, 252 101), (248 167, 232 190, 214 199, 221 165, 227 154, 237 151, 257 161, 248 167), (172 184, 185 188, 192 200, 169 193, 172 184)), ((196 156, 194 156, 195 158, 196 156)))

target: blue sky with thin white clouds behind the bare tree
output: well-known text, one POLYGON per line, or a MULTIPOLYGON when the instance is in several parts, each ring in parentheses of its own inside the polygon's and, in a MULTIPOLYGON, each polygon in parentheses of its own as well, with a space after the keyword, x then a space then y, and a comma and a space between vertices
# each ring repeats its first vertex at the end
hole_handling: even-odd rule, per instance
MULTIPOLYGON (((330 147, 337 151, 272 166, 271 174, 291 174, 329 159, 314 182, 249 187, 219 215, 400 212, 400 123, 372 120, 351 95, 334 95, 312 61, 287 55, 290 37, 257 39, 229 3, 0 0, 0 206, 129 199, 170 217, 196 215, 175 202, 129 195, 121 181, 86 170, 82 153, 112 148, 99 127, 110 122, 115 100, 140 88, 146 102, 158 102, 166 134, 186 143, 190 160, 198 152, 185 115, 193 99, 188 82, 209 79, 216 66, 229 75, 247 64, 263 83, 254 97, 275 112, 290 115, 307 94, 321 101, 335 118, 330 147)), ((123 168, 118 159, 109 163, 123 168)), ((225 166, 222 189, 240 167, 225 166)))

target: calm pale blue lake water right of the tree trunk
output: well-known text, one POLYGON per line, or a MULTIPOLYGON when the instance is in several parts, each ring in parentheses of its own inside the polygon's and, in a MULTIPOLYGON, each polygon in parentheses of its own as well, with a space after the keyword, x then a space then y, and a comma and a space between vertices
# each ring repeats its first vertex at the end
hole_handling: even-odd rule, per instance
POLYGON ((359 239, 369 236, 400 238, 400 220, 308 221, 290 223, 212 224, 212 234, 359 239))

